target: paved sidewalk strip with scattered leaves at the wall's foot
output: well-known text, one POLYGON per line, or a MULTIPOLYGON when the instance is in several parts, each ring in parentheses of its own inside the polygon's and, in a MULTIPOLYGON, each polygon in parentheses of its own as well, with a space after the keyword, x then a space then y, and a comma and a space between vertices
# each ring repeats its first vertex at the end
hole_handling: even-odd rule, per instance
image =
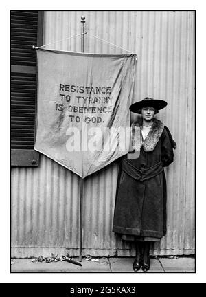
MULTIPOLYGON (((134 258, 82 259, 82 267, 58 261, 52 263, 32 262, 32 259, 12 259, 11 272, 133 272, 134 258)), ((74 259, 78 261, 77 259, 74 259)), ((150 272, 195 272, 195 259, 190 257, 155 257, 150 259, 150 272)), ((134 272, 136 273, 136 272, 134 272)), ((141 270, 137 273, 143 273, 141 270)))

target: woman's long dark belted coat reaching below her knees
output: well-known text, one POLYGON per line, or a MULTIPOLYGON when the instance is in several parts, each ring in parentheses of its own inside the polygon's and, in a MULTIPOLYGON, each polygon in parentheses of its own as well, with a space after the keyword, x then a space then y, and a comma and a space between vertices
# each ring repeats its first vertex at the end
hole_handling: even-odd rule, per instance
POLYGON ((173 162, 170 132, 158 120, 152 125, 137 159, 119 166, 113 232, 161 238, 166 233, 166 180, 163 170, 173 162), (159 129, 159 131, 158 131, 159 129), (159 135, 158 135, 159 133, 159 135), (169 134, 168 134, 169 133, 169 134), (155 143, 157 142, 157 143, 155 143))

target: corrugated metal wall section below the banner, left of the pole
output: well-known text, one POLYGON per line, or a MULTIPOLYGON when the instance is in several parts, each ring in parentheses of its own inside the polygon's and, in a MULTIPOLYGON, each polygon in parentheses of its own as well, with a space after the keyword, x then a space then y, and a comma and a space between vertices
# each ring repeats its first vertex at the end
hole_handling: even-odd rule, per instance
POLYGON ((39 168, 12 168, 11 184, 14 256, 78 255, 78 177, 41 155, 39 168))

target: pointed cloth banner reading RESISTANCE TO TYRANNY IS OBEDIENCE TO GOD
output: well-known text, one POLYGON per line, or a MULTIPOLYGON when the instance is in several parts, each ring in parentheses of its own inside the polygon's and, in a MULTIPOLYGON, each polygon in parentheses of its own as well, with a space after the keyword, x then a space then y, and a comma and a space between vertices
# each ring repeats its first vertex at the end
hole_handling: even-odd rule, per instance
POLYGON ((136 55, 36 52, 36 151, 83 178, 128 153, 136 55))

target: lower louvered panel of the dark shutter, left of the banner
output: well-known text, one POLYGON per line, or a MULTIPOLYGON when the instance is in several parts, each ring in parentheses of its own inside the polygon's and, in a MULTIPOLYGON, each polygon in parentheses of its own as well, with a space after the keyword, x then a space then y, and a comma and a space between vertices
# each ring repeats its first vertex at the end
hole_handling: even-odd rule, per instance
POLYGON ((11 148, 34 148, 36 74, 12 73, 11 148))

